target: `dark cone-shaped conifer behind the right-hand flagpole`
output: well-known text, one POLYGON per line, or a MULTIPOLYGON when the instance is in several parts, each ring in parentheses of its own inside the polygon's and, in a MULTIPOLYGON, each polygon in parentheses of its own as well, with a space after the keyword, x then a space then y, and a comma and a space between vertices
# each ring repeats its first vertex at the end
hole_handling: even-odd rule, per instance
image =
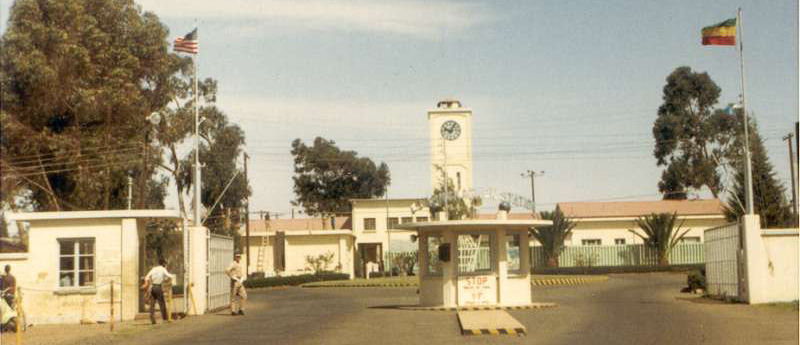
MULTIPOLYGON (((743 113, 737 112, 737 121, 742 123, 743 113)), ((791 205, 785 197, 783 185, 775 177, 772 163, 769 162, 764 140, 758 133, 755 121, 750 121, 750 161, 753 171, 753 212, 761 218, 763 228, 770 227, 791 227, 792 211, 791 205)), ((745 176, 744 176, 744 137, 743 126, 737 126, 736 139, 734 146, 739 148, 733 157, 733 187, 728 196, 725 215, 729 221, 737 221, 746 212, 745 199, 745 176)))

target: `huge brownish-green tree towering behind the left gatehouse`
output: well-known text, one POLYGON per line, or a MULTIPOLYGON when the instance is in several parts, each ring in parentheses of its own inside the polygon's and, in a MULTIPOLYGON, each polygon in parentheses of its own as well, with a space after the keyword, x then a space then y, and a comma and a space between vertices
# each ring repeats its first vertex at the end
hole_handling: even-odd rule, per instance
POLYGON ((145 117, 170 94, 166 37, 133 0, 14 3, 0 41, 6 204, 23 196, 35 210, 125 206, 127 177, 145 173, 145 117))

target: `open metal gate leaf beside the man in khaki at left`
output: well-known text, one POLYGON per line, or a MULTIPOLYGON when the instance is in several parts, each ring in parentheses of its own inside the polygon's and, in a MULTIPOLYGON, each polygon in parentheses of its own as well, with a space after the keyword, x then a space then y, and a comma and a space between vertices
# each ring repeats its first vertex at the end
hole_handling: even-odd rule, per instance
POLYGON ((208 310, 227 307, 231 283, 225 270, 233 261, 233 238, 211 234, 208 238, 208 310))

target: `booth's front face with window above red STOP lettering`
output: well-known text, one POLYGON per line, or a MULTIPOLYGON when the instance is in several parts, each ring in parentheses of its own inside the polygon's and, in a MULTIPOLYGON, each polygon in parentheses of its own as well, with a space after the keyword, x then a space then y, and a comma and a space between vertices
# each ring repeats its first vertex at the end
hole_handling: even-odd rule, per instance
POLYGON ((456 293, 459 306, 497 304, 494 233, 461 233, 457 240, 456 293))

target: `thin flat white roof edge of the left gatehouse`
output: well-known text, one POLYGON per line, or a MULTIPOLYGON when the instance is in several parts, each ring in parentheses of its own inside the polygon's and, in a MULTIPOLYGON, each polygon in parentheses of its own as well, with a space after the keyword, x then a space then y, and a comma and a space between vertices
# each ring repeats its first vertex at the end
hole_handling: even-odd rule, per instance
POLYGON ((172 218, 181 219, 178 210, 106 210, 58 212, 6 212, 7 221, 98 219, 98 218, 172 218))

